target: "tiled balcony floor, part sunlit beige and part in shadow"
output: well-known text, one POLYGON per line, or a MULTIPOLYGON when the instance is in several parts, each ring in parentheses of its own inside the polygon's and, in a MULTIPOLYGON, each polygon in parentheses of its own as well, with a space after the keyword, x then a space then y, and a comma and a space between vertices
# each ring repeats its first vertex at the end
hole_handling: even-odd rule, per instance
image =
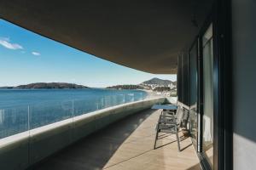
POLYGON ((175 135, 160 134, 153 149, 160 111, 142 111, 79 140, 34 169, 201 169, 193 145, 182 134, 181 152, 175 135))

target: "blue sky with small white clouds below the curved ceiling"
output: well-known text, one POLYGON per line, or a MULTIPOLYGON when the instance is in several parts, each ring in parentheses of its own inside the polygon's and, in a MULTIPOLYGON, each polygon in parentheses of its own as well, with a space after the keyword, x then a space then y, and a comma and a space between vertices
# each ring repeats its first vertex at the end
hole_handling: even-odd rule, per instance
POLYGON ((105 88, 153 77, 176 81, 176 75, 154 75, 117 65, 0 19, 0 87, 70 82, 105 88))

